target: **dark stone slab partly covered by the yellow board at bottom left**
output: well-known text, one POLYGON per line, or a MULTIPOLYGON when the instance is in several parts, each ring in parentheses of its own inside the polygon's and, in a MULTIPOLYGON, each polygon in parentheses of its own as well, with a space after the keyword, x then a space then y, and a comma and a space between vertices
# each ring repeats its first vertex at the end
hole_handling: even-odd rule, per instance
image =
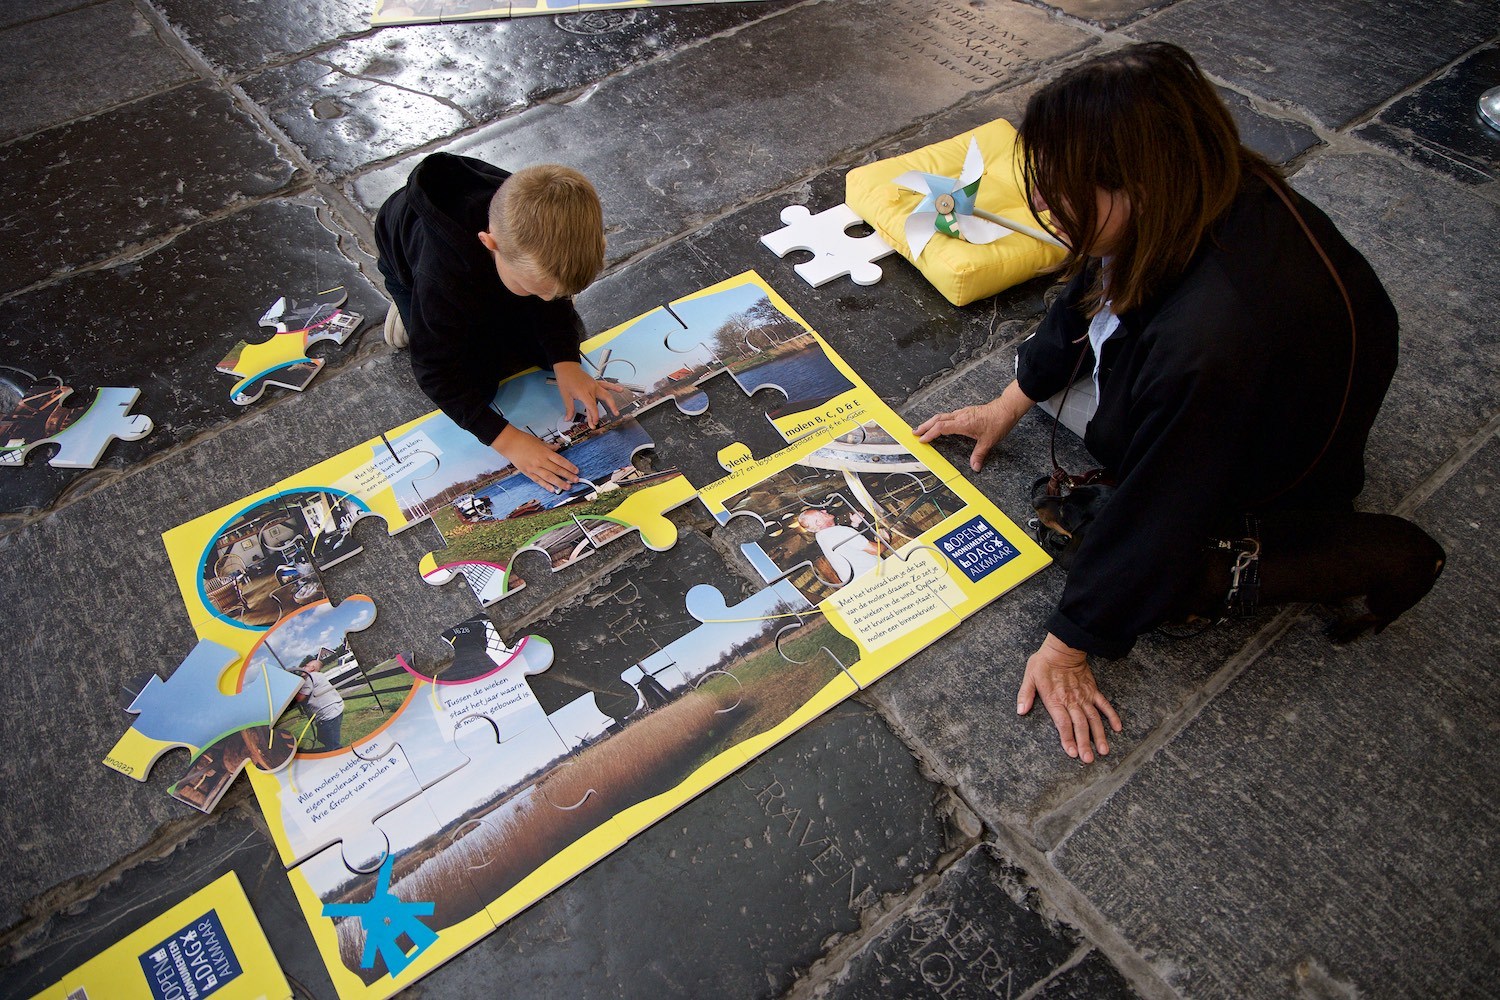
POLYGON ((254 805, 219 807, 220 814, 164 858, 140 864, 86 903, 51 916, 0 954, 6 966, 6 996, 27 997, 45 990, 122 937, 232 871, 266 931, 282 972, 332 997, 333 984, 318 960, 312 934, 276 847, 250 819, 254 805))

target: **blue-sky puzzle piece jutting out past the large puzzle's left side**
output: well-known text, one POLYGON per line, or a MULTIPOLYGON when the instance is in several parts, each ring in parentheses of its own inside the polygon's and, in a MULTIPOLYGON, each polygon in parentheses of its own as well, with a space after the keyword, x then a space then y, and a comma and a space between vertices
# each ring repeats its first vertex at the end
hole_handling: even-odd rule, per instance
POLYGON ((284 741, 272 735, 272 727, 300 687, 302 679, 285 670, 248 660, 242 666, 236 651, 200 640, 166 681, 153 673, 138 688, 128 688, 126 711, 136 718, 104 763, 146 781, 164 753, 184 747, 194 754, 194 768, 183 778, 188 784, 178 781, 171 793, 208 813, 246 763, 264 762, 274 769, 291 760, 290 754, 273 753, 284 741), (243 735, 252 727, 260 727, 264 738, 243 735), (236 741, 243 753, 236 750, 236 741), (210 751, 213 757, 198 766, 210 751))

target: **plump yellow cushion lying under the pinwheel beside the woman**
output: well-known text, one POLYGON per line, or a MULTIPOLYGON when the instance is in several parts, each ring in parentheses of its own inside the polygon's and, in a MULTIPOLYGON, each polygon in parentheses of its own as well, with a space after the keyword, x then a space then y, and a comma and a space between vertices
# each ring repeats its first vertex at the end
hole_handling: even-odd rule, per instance
MULTIPOLYGON (((844 201, 897 253, 912 261, 906 246, 906 216, 915 211, 922 196, 891 181, 909 169, 957 178, 963 171, 970 135, 980 139, 980 151, 984 154, 978 207, 1041 228, 1020 187, 1016 129, 1004 118, 888 160, 856 166, 844 180, 844 201)), ((1052 270, 1062 258, 1060 249, 1020 232, 982 246, 939 232, 912 264, 948 301, 966 306, 1052 270)))

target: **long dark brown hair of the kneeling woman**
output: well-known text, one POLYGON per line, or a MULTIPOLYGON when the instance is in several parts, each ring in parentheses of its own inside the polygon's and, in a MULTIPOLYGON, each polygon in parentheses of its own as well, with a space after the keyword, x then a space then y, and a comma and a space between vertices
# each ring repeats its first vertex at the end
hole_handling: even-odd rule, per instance
POLYGON ((1070 69, 1026 105, 1022 181, 1071 241, 1066 276, 1083 270, 1102 222, 1095 190, 1130 199, 1130 222, 1110 252, 1114 312, 1140 306, 1182 274, 1209 226, 1260 168, 1281 183, 1239 129, 1192 57, 1167 42, 1107 52, 1070 69))

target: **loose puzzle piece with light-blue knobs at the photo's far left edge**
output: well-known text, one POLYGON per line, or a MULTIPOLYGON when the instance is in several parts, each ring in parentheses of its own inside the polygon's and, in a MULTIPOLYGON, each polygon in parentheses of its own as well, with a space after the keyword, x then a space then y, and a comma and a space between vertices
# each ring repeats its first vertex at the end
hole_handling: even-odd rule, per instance
POLYGON ((64 406, 74 390, 51 381, 32 379, 20 402, 0 415, 0 465, 24 465, 33 448, 51 444, 57 445, 46 462, 52 468, 92 469, 116 438, 140 441, 152 433, 152 418, 130 412, 141 390, 100 388, 88 406, 64 406))

